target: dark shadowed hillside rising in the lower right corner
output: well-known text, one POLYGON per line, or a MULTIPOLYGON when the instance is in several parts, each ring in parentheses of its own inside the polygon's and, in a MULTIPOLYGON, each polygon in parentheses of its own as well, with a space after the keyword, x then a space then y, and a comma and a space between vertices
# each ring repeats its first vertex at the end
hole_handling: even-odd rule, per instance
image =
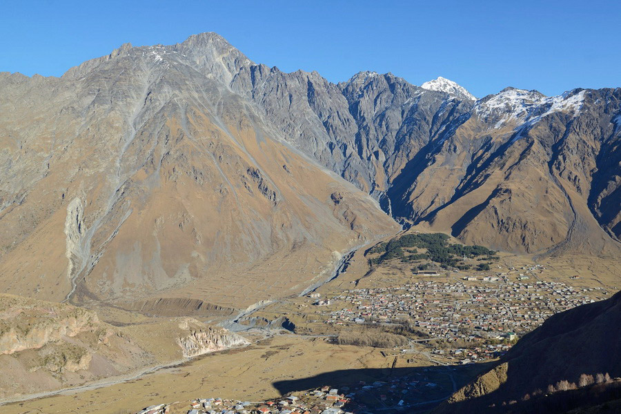
MULTIPOLYGON (((548 386, 558 388, 562 381, 584 387, 598 374, 620 377, 620 324, 621 292, 557 313, 520 339, 491 371, 457 391, 434 413, 473 413, 489 410, 493 404, 504 412, 507 408, 502 408, 502 402, 524 402, 524 395, 549 393, 548 386), (581 384, 582 375, 590 376, 590 381, 581 384)), ((542 412, 533 408, 536 404, 524 412, 542 412)), ((522 408, 518 405, 509 411, 519 413, 522 408)))

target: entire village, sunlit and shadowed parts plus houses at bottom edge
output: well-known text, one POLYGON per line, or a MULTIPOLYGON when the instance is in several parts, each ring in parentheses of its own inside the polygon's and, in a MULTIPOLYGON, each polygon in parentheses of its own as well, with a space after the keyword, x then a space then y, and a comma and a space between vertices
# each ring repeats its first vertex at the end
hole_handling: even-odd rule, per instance
MULTIPOLYGON (((395 326, 420 335, 408 345, 380 351, 393 368, 339 388, 283 392, 244 402, 217 397, 148 406, 137 414, 351 414, 420 412, 457 391, 464 378, 509 351, 519 337, 549 316, 606 298, 602 287, 574 287, 539 277, 542 266, 509 272, 413 271, 402 284, 306 295, 320 326, 395 326), (314 305, 314 306, 313 306, 314 305), (398 364, 397 364, 398 361, 398 364), (421 361, 431 362, 422 366, 421 361), (374 376, 374 379, 371 377, 374 376), (366 382, 364 381, 366 380, 366 382)), ((573 279, 573 277, 571 278, 573 279)), ((313 326, 311 324, 311 326, 313 326)), ((315 325, 317 326, 317 325, 315 325)), ((312 329, 312 328, 311 328, 312 329)), ((337 335, 327 333, 327 339, 337 335)), ((308 331, 313 335, 313 331, 308 331)), ((319 336, 322 336, 321 334, 319 336)), ((333 380, 339 382, 339 378, 333 380)), ((292 388, 293 389, 293 388, 292 388)), ((299 389, 299 388, 295 388, 299 389)))

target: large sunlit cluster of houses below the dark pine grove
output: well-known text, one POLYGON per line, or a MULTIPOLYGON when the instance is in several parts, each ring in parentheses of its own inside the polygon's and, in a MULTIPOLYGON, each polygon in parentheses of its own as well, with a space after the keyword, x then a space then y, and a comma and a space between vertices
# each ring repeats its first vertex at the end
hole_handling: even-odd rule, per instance
POLYGON ((602 288, 573 288, 562 282, 511 282, 502 274, 475 283, 435 279, 391 288, 345 290, 332 298, 339 309, 326 312, 326 323, 407 321, 449 342, 514 339, 554 313, 606 295, 602 288))

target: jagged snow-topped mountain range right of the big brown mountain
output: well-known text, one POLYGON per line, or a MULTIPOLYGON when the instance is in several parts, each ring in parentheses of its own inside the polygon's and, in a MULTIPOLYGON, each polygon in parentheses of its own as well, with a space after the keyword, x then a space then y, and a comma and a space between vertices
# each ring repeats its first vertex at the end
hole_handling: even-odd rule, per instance
POLYGON ((444 78, 419 88, 360 72, 335 85, 262 65, 232 88, 397 219, 515 252, 620 251, 619 88, 475 101, 444 78))

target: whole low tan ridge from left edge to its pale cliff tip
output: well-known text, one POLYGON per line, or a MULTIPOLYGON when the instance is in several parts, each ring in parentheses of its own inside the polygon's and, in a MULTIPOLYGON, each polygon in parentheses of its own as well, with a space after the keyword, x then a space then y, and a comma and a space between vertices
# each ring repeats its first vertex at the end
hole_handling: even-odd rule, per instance
MULTIPOLYGON (((125 313, 125 311, 121 311, 125 313)), ((70 304, 0 295, 0 399, 70 388, 248 344, 196 319, 112 326, 70 304)))

